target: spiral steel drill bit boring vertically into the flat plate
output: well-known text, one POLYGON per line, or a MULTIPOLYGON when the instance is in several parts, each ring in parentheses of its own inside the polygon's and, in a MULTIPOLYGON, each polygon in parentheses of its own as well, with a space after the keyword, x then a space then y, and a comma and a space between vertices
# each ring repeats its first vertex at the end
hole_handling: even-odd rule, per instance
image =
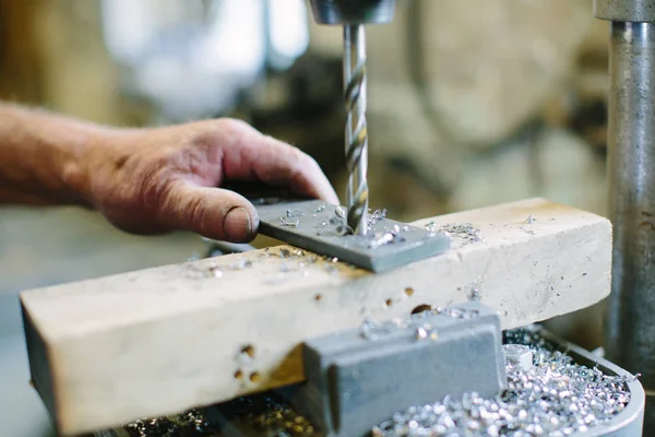
POLYGON ((369 191, 367 182, 368 132, 366 121, 366 36, 362 24, 344 26, 344 99, 348 227, 366 235, 369 191), (356 191, 354 192, 354 188, 356 191))

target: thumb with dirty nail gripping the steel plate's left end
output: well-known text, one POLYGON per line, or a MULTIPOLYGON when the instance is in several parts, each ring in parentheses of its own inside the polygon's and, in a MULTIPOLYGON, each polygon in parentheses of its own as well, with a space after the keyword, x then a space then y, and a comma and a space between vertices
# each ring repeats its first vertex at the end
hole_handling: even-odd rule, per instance
POLYGON ((167 227, 233 243, 251 241, 259 227, 257 210, 242 196, 183 180, 171 184, 158 209, 158 221, 167 227))

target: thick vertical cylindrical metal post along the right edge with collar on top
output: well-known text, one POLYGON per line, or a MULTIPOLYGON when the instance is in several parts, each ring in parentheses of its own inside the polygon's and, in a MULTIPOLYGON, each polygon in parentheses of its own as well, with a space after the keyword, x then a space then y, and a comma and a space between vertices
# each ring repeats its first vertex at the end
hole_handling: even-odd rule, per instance
POLYGON ((609 20, 607 358, 642 374, 644 435, 655 435, 655 0, 596 0, 609 20))

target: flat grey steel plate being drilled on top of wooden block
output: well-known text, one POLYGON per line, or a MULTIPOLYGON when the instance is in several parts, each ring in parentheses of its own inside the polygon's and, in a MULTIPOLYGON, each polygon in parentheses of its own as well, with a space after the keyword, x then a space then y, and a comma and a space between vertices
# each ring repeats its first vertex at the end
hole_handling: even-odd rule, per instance
POLYGON ((346 209, 320 200, 254 204, 260 234, 373 272, 392 270, 450 248, 450 238, 443 233, 386 217, 370 220, 371 214, 366 236, 343 235, 346 209))

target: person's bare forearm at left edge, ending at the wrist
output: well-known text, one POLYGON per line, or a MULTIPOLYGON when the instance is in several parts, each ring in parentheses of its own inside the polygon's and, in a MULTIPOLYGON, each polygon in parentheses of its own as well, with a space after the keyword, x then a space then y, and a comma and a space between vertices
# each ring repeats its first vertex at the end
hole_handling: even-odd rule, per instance
POLYGON ((82 163, 104 130, 0 104, 0 203, 86 204, 82 163))

